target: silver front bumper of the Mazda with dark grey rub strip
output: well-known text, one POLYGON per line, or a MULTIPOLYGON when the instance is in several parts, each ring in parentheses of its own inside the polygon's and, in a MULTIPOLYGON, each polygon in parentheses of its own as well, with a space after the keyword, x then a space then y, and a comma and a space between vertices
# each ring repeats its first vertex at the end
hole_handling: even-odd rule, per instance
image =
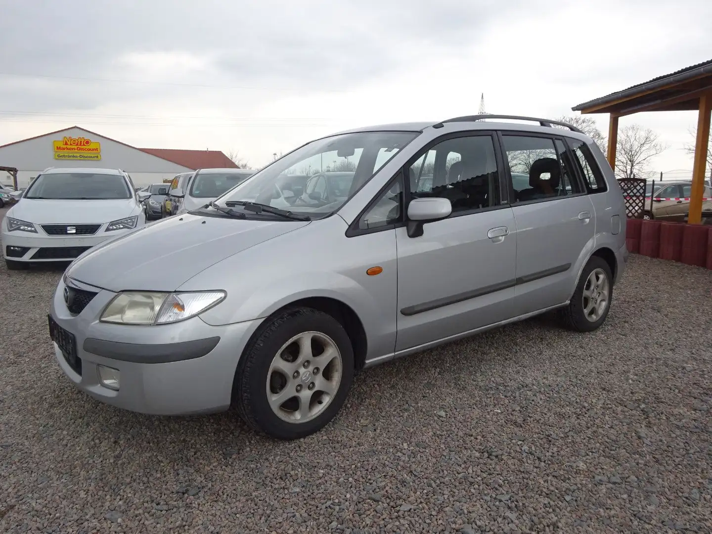
POLYGON ((260 320, 224 326, 208 325, 199 317, 172 325, 99 323, 115 293, 91 288, 97 295, 81 313, 72 315, 64 302, 64 287, 60 281, 50 315, 75 335, 81 374, 53 345, 64 374, 83 392, 144 414, 199 414, 229 408, 239 357, 260 320), (98 365, 119 370, 117 391, 100 383, 98 365))

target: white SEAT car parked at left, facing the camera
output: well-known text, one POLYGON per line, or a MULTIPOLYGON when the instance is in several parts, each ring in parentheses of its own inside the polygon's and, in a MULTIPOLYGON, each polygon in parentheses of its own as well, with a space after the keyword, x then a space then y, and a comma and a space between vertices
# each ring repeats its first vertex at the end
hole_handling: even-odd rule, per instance
POLYGON ((27 263, 70 261, 107 239, 146 223, 142 201, 120 169, 51 168, 23 192, 2 221, 9 269, 27 263))

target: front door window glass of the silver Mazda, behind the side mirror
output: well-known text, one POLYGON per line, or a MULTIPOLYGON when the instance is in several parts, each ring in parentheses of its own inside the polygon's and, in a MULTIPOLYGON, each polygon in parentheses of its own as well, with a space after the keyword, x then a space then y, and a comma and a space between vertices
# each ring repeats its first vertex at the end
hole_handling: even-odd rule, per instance
POLYGON ((409 167, 412 197, 449 199, 453 213, 495 206, 497 176, 489 135, 444 140, 409 167))

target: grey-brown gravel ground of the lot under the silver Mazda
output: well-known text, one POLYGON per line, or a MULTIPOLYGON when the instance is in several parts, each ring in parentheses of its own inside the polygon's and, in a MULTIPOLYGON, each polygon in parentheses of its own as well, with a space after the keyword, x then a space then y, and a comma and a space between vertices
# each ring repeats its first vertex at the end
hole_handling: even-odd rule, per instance
POLYGON ((290 443, 78 392, 60 276, 0 266, 0 530, 712 532, 712 271, 632 256, 596 333, 539 318, 368 370, 290 443))

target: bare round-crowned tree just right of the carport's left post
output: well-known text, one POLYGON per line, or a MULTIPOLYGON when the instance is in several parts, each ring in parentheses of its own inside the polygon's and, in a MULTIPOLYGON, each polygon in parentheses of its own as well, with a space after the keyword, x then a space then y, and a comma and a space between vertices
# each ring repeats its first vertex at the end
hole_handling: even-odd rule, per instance
POLYGON ((650 160, 667 149, 650 128, 637 124, 622 127, 616 147, 616 174, 621 178, 643 177, 650 160))

